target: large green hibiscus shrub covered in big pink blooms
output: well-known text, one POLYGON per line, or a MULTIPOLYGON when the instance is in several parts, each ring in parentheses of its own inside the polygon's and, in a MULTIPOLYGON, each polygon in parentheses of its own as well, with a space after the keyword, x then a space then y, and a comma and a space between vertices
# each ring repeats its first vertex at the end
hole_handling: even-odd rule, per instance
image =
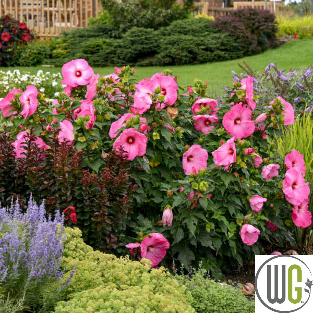
MULTIPOLYGON (((147 258, 157 266, 165 258, 174 268, 180 263, 186 269, 203 259, 218 276, 233 261, 240 265, 243 258, 263 252, 266 242, 294 246, 291 232, 311 224, 303 156, 296 151, 280 156, 271 144, 280 125, 293 123, 294 109, 280 96, 258 102, 253 77, 235 82, 218 103, 199 80, 181 94, 177 77, 168 70, 138 82, 135 69, 127 66, 99 79, 85 60, 76 59, 64 64, 62 74, 66 87, 52 104, 28 86, 22 95, 9 93, 0 107, 14 132, 17 159, 23 158, 21 144, 31 127, 38 149, 47 149, 46 159, 46 145, 53 147, 51 134, 66 151, 80 153, 76 163, 85 169, 84 178, 74 172, 62 197, 52 196, 56 204, 77 208, 77 223, 88 242, 115 245, 114 228, 131 244, 127 247, 134 259, 147 258), (108 153, 128 160, 136 190, 123 173, 116 181, 107 175, 108 153), (115 210, 101 188, 118 190, 120 182, 126 189, 118 192, 115 210), (125 199, 132 201, 133 214, 118 228, 120 219, 106 214, 114 209, 114 216, 122 218, 130 212, 123 209, 125 199), (93 205, 102 213, 93 214, 93 205), (105 225, 100 238, 90 233, 95 215, 105 225)), ((59 159, 61 174, 53 179, 65 186, 72 162, 59 159)), ((116 165, 124 162, 111 159, 116 165)))

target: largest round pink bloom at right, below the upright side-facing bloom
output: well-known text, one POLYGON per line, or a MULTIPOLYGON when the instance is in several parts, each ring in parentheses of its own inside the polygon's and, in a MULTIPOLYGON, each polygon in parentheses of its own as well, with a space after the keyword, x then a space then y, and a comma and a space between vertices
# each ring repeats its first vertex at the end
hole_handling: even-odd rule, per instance
POLYGON ((245 138, 254 132, 254 122, 251 121, 251 110, 236 104, 223 116, 223 126, 234 140, 245 138))

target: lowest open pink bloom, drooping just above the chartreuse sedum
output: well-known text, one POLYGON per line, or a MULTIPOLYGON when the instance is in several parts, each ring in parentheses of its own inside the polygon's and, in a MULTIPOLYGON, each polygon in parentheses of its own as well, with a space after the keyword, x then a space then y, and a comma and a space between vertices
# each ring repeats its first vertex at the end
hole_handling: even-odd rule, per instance
POLYGON ((155 267, 164 259, 170 244, 162 234, 151 233, 149 236, 142 240, 141 257, 150 260, 151 267, 155 267))

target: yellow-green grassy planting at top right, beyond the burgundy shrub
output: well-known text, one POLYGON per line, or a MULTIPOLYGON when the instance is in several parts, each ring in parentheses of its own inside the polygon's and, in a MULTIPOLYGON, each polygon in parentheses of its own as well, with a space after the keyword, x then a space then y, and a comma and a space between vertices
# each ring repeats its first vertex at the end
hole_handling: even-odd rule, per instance
POLYGON ((297 38, 306 38, 313 36, 313 16, 303 17, 280 17, 278 22, 278 36, 294 35, 297 34, 297 38))

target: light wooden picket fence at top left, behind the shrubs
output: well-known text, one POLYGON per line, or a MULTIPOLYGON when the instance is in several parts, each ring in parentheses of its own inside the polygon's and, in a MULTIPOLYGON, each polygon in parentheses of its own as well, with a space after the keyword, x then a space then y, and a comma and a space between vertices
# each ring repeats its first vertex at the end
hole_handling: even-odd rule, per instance
POLYGON ((0 0, 0 16, 11 14, 40 37, 86 27, 88 18, 97 17, 100 9, 97 0, 0 0))

